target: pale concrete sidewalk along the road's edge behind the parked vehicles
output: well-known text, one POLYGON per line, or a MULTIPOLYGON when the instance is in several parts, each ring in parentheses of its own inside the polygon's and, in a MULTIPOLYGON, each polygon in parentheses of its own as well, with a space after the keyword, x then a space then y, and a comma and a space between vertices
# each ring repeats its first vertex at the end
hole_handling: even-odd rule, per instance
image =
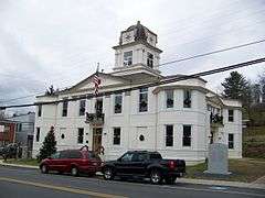
MULTIPOLYGON (((11 167, 23 167, 23 168, 39 169, 39 166, 8 164, 8 163, 4 163, 2 160, 0 160, 0 166, 11 166, 11 167)), ((96 175, 102 176, 102 173, 97 173, 96 175)), ((179 184, 195 184, 195 185, 209 185, 209 186, 231 186, 231 187, 240 187, 240 188, 265 189, 265 183, 263 183, 264 179, 265 179, 265 177, 261 177, 259 179, 257 179, 253 183, 239 183, 239 182, 226 182, 226 180, 178 178, 177 184, 179 183, 179 184), (262 183, 259 180, 262 180, 262 183)))

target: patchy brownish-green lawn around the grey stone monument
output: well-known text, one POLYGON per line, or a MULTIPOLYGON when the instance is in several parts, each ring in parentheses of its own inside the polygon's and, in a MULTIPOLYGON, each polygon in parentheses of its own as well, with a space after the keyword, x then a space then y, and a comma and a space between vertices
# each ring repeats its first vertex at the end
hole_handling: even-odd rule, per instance
POLYGON ((232 174, 229 176, 203 174, 204 170, 206 170, 205 163, 188 166, 186 177, 252 183, 265 175, 265 160, 230 160, 229 170, 232 172, 232 174))

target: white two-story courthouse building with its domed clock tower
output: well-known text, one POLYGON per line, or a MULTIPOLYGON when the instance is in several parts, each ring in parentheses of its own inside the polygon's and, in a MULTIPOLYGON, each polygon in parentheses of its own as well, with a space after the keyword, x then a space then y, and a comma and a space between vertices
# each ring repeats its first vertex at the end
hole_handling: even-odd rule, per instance
MULTIPOLYGON (((150 150, 166 158, 200 162, 208 157, 209 145, 214 142, 227 144, 230 157, 242 157, 240 101, 221 98, 205 87, 202 78, 144 86, 181 76, 162 76, 159 72, 162 51, 157 47, 157 38, 140 22, 129 26, 113 47, 113 73, 98 74, 99 94, 142 88, 36 107, 33 155, 53 125, 59 150, 103 146, 104 160, 117 158, 128 150, 150 150)), ((36 102, 91 96, 93 78, 53 96, 38 96, 36 102)))

